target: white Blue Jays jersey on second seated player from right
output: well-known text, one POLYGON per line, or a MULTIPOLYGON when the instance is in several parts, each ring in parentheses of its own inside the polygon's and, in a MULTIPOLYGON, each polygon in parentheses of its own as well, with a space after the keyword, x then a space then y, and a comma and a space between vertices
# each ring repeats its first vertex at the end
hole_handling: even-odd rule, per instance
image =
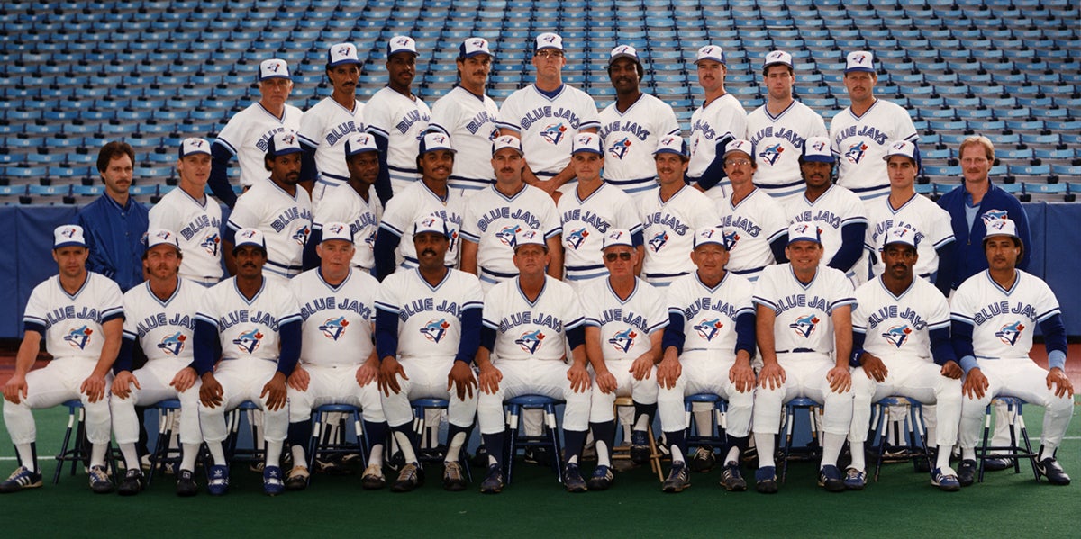
POLYGON ((949 323, 946 296, 923 279, 912 280, 900 296, 894 296, 882 278, 856 288, 852 329, 866 336, 864 350, 878 358, 933 363, 931 331, 948 328, 949 323))

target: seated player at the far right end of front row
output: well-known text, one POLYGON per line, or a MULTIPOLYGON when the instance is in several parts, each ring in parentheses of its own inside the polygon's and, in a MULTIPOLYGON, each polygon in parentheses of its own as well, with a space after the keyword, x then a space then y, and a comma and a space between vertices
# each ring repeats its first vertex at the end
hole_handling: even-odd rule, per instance
POLYGON ((1042 280, 1017 269, 1025 244, 1013 220, 990 223, 983 243, 987 271, 962 283, 950 305, 953 350, 964 368, 958 468, 961 486, 973 483, 980 419, 987 404, 999 395, 1017 396, 1045 408, 1037 470, 1053 485, 1068 485, 1070 476, 1055 459, 1073 408, 1058 299, 1042 280), (1037 324, 1047 349, 1047 369, 1028 356, 1037 324))

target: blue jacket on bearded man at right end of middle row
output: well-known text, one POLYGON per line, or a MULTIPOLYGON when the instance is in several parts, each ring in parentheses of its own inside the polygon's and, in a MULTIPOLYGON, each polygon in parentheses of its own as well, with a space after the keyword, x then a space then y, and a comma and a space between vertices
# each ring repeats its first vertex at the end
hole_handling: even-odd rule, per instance
POLYGON ((987 226, 982 218, 988 212, 991 216, 997 212, 1005 212, 1006 215, 1017 225, 1017 235, 1025 245, 1025 252, 1020 260, 1017 261, 1017 269, 1027 270, 1028 262, 1032 257, 1032 238, 1028 232, 1028 216, 1022 208, 1020 202, 1013 194, 990 184, 990 189, 979 201, 979 211, 972 221, 972 230, 969 230, 969 221, 964 217, 964 206, 972 197, 964 186, 958 187, 938 199, 938 205, 949 212, 950 221, 953 225, 953 237, 957 238, 957 270, 953 273, 953 289, 957 289, 966 279, 987 269, 987 255, 984 254, 984 235, 987 234, 987 226))

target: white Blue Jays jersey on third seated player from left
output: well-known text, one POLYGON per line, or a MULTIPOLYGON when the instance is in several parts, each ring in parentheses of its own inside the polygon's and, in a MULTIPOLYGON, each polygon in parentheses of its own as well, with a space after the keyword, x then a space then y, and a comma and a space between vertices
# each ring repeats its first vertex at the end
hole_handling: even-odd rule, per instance
POLYGON ((237 288, 237 278, 215 284, 202 294, 196 314, 217 329, 222 359, 253 358, 278 362, 281 352, 279 327, 301 320, 296 298, 289 282, 263 275, 263 286, 248 299, 237 288))

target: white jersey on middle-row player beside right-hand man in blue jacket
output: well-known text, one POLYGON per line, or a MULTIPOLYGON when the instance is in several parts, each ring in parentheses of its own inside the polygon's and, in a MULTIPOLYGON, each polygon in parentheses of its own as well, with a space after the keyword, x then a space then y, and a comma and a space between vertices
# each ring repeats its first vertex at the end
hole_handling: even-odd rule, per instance
POLYGON ((912 271, 922 278, 930 278, 938 271, 938 253, 935 251, 955 241, 953 227, 950 225, 949 212, 943 210, 927 199, 917 193, 900 207, 894 210, 890 205, 890 197, 882 197, 867 202, 867 237, 864 246, 878 257, 871 270, 876 275, 882 274, 882 242, 885 233, 893 227, 909 227, 916 229, 919 241, 916 252, 920 255, 912 271))

